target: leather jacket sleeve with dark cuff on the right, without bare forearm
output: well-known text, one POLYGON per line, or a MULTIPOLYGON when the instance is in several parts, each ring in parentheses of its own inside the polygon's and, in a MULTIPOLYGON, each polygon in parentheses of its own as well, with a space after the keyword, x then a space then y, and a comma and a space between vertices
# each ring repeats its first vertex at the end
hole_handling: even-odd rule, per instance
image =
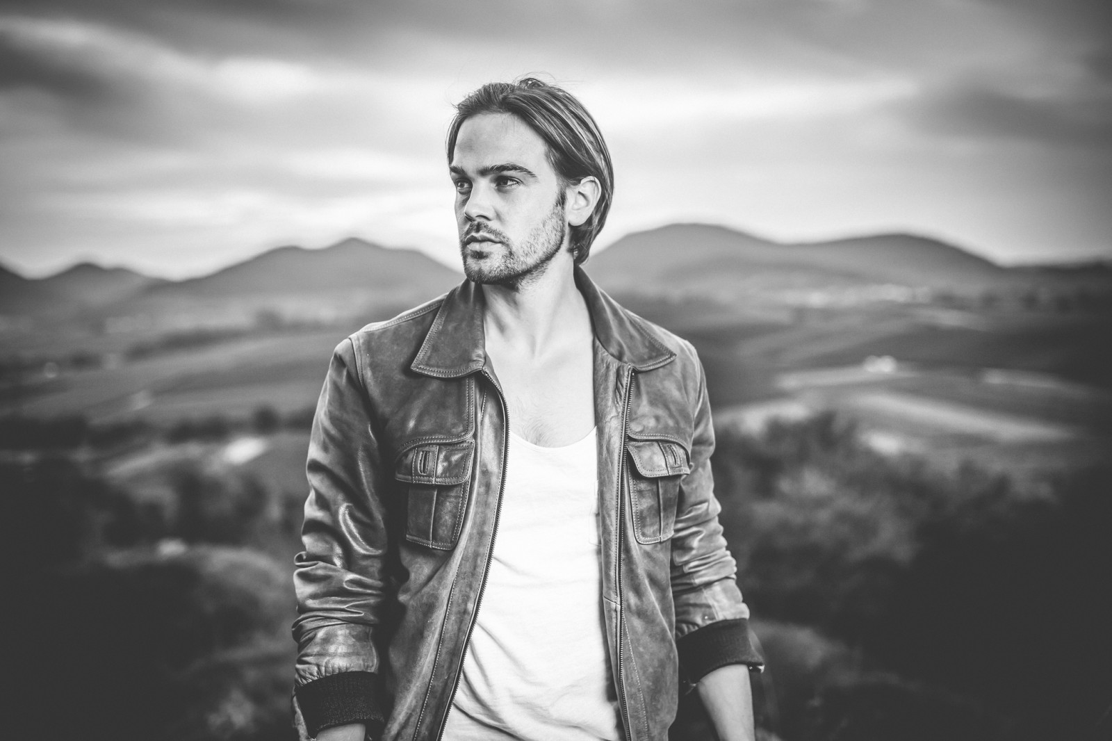
POLYGON ((764 666, 748 632, 749 610, 737 589, 737 564, 718 524, 711 454, 714 426, 706 376, 694 347, 686 344, 698 377, 691 473, 679 484, 672 537, 672 595, 676 607, 676 649, 682 679, 693 685, 726 664, 764 666))

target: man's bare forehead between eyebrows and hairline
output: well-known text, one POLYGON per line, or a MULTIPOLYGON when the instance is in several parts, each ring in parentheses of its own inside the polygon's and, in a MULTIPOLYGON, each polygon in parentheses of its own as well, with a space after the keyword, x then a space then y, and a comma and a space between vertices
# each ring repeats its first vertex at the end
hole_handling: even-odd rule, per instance
POLYGON ((451 164, 469 170, 516 162, 539 175, 546 168, 552 170, 547 154, 545 140, 516 116, 479 113, 459 127, 451 164))

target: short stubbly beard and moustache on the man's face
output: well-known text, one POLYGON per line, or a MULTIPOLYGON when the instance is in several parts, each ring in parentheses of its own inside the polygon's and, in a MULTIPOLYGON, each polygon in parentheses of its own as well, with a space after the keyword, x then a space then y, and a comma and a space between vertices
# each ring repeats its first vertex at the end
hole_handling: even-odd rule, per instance
MULTIPOLYGON (((560 196, 564 194, 560 192, 560 196)), ((552 264, 564 246, 567 221, 564 217, 564 198, 559 197, 545 219, 529 230, 520 243, 512 240, 502 231, 493 229, 484 221, 473 221, 464 238, 459 240, 459 251, 464 258, 464 274, 468 280, 479 284, 504 286, 514 290, 535 283, 552 264), (485 257, 470 254, 467 237, 481 234, 502 243, 499 255, 493 251, 485 257)))

